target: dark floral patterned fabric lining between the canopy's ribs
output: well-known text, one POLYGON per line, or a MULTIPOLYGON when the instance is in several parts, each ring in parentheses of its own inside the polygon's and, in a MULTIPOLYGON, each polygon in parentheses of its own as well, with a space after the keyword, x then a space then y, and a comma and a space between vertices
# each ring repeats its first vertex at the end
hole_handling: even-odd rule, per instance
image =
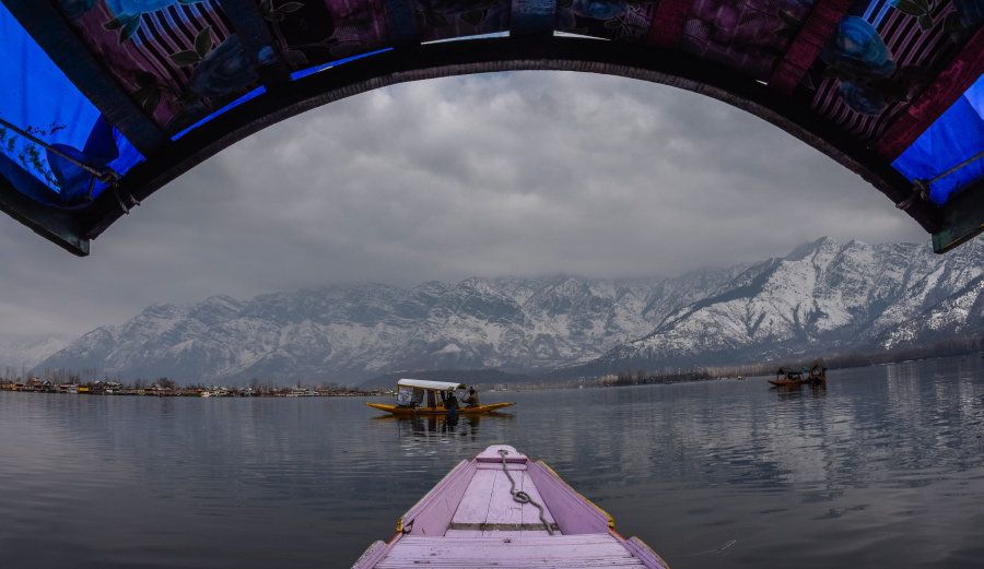
MULTIPOLYGON (((255 88, 255 62, 292 71, 389 47, 383 0, 256 0, 276 54, 249 54, 218 0, 52 0, 124 88, 175 133, 255 88)), ((505 32, 508 0, 409 0, 421 42, 505 32)), ((669 0, 667 0, 669 1, 669 0)), ((678 49, 768 81, 816 0, 694 0, 678 49)), ((684 7, 688 4, 683 4, 684 7)), ((555 29, 647 45, 659 0, 559 0, 555 29)), ((981 0, 865 0, 801 92, 869 140, 984 22, 981 0)))

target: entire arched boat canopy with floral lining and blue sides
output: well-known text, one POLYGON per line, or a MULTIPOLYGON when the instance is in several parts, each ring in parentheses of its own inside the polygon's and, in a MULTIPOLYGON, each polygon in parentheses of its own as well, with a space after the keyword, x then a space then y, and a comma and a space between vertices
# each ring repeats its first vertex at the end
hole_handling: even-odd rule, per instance
POLYGON ((944 252, 984 228, 977 0, 0 0, 0 209, 77 254, 288 117, 405 81, 569 70, 752 112, 944 252))

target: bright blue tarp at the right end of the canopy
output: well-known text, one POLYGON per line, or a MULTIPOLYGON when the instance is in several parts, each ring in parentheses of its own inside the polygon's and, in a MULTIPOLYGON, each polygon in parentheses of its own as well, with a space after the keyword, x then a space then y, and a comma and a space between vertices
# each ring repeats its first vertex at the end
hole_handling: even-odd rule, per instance
MULTIPOLYGON (((984 75, 905 149, 892 166, 910 180, 930 180, 981 151, 984 151, 984 75)), ((933 182, 929 199, 942 205, 953 192, 981 178, 984 178, 984 159, 933 182)))

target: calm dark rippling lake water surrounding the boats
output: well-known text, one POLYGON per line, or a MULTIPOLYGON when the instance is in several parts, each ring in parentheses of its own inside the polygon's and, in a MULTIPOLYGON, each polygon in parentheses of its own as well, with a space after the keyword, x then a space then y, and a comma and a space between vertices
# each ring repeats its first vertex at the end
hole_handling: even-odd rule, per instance
POLYGON ((506 417, 367 400, 0 392, 0 567, 335 568, 494 442, 543 459, 673 569, 984 567, 984 358, 484 393, 506 417))

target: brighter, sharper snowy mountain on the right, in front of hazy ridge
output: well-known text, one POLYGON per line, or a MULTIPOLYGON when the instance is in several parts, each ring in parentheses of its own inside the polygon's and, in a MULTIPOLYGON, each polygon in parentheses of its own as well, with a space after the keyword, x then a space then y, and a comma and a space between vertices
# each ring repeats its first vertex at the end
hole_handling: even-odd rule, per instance
POLYGON ((984 333, 984 239, 947 256, 914 244, 823 238, 749 268, 679 308, 598 368, 889 349, 984 333))

